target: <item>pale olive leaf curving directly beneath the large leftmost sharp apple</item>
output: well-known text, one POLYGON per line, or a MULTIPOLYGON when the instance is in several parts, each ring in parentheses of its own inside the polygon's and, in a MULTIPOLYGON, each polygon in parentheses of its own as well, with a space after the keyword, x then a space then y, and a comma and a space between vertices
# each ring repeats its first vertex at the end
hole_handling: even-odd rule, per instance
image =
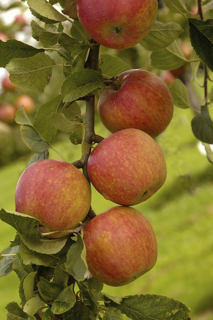
POLYGON ((39 253, 54 254, 59 252, 65 245, 67 238, 54 240, 29 239, 21 236, 21 241, 30 249, 39 253))

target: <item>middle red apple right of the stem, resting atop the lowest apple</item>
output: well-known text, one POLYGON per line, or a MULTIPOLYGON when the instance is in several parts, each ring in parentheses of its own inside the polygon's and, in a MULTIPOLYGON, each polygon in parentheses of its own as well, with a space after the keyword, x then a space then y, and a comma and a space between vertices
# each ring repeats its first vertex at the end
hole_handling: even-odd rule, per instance
POLYGON ((102 140, 87 165, 96 190, 116 204, 149 199, 166 180, 166 162, 157 142, 138 129, 124 129, 102 140))

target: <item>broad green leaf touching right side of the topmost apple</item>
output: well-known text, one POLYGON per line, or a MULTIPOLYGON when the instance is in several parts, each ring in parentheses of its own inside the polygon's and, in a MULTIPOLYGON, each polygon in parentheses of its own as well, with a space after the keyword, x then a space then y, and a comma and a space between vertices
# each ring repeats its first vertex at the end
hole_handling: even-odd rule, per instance
POLYGON ((183 32, 176 22, 162 23, 156 21, 148 35, 139 42, 146 50, 157 51, 166 48, 183 32))

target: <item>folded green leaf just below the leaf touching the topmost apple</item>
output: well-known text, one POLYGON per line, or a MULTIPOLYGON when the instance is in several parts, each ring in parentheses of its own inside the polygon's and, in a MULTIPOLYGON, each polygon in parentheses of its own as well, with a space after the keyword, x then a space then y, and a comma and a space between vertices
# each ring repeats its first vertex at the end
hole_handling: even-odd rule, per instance
POLYGON ((186 62, 178 40, 164 49, 152 52, 150 59, 154 68, 162 70, 172 70, 183 66, 186 62))

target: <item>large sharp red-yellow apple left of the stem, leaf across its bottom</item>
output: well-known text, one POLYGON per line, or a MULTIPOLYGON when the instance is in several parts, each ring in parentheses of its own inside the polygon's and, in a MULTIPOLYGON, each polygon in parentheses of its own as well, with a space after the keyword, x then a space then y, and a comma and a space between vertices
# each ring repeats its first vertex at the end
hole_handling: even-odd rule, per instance
POLYGON ((85 220, 90 203, 91 189, 83 173, 60 160, 31 164, 21 174, 15 191, 15 210, 38 219, 43 225, 41 232, 75 229, 85 220))

